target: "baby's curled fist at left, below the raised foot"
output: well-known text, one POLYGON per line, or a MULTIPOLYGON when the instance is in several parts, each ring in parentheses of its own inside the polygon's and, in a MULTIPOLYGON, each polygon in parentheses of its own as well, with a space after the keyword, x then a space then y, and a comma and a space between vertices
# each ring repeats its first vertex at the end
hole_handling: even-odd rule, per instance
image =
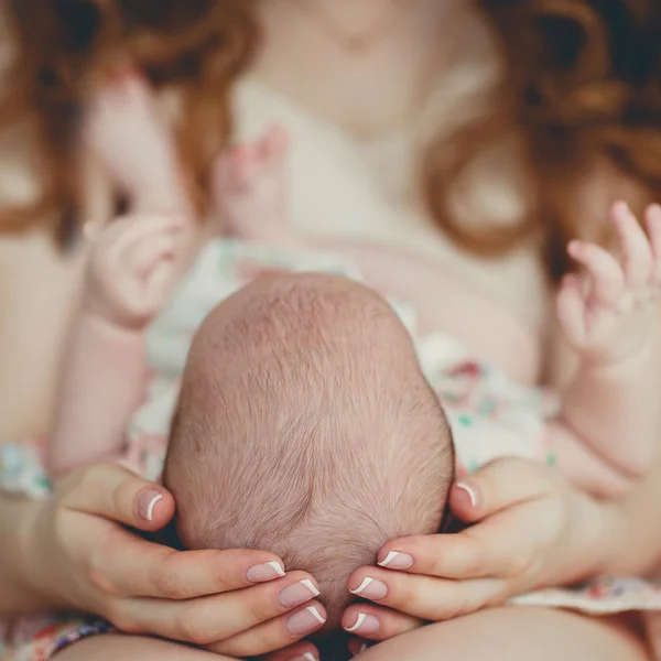
POLYGON ((136 215, 111 223, 91 251, 84 306, 122 328, 142 329, 162 310, 176 277, 184 220, 136 215))

